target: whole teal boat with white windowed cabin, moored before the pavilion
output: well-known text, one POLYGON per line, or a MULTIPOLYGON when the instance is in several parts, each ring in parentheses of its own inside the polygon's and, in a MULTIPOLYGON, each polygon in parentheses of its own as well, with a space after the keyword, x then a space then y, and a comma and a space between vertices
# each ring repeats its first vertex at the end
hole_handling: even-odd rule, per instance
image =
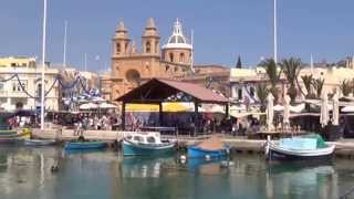
POLYGON ((173 153, 175 142, 162 140, 158 132, 138 132, 124 136, 124 156, 153 156, 173 153))

